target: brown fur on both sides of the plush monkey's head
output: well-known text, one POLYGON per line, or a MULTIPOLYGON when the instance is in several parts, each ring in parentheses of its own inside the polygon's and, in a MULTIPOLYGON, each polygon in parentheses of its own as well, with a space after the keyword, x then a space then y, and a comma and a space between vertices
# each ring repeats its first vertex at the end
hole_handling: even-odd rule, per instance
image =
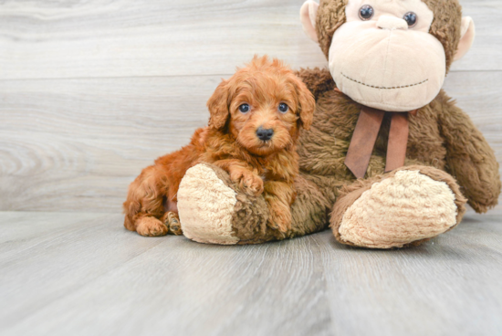
MULTIPOLYGON (((429 33, 443 44, 446 54, 446 72, 450 68, 460 40, 462 7, 456 0, 422 0, 434 13, 429 33)), ((347 0, 320 0, 316 19, 319 46, 328 58, 331 39, 335 30, 347 20, 345 6, 347 0)))

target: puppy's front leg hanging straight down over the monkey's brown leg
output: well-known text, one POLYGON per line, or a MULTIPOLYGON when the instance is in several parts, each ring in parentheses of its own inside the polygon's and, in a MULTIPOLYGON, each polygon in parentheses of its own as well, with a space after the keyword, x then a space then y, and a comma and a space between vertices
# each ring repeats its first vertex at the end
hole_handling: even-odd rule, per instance
POLYGON ((265 183, 263 195, 270 210, 268 219, 270 227, 278 228, 280 232, 287 232, 291 229, 291 205, 296 194, 292 184, 279 181, 265 183))

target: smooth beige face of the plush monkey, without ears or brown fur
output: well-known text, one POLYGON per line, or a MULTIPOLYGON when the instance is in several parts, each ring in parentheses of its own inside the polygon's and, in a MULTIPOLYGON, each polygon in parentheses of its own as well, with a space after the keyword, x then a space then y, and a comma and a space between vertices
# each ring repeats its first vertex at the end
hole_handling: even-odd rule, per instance
POLYGON ((423 107, 443 86, 443 45, 421 0, 349 0, 347 21, 333 35, 329 70, 337 87, 372 108, 423 107))

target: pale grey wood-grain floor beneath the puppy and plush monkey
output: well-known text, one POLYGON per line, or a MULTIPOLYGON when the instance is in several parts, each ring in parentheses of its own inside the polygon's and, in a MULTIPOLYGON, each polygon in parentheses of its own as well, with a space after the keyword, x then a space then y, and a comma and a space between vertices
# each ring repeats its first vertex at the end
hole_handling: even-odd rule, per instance
POLYGON ((468 215, 421 247, 391 251, 342 246, 330 231, 208 246, 138 236, 120 215, 72 215, 0 213, 0 334, 502 331, 499 214, 468 215))

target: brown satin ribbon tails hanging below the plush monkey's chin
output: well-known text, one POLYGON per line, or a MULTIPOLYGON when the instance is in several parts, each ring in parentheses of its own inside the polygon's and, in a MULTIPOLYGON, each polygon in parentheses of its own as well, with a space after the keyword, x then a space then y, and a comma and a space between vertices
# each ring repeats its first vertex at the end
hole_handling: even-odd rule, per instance
MULTIPOLYGON (((415 115, 416 110, 392 112, 385 172, 390 172, 404 165, 408 143, 408 113, 415 115)), ((357 178, 364 177, 368 169, 371 152, 373 152, 384 114, 384 110, 376 110, 366 106, 361 109, 345 158, 345 165, 357 178)))

